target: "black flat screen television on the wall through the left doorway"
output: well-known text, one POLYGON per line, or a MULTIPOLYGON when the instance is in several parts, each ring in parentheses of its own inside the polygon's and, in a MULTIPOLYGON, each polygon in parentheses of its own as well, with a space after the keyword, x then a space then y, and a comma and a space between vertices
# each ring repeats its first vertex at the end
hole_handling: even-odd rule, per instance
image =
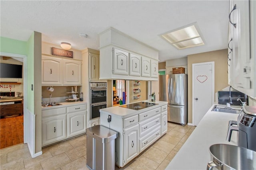
POLYGON ((22 65, 0 63, 0 78, 22 78, 22 65))

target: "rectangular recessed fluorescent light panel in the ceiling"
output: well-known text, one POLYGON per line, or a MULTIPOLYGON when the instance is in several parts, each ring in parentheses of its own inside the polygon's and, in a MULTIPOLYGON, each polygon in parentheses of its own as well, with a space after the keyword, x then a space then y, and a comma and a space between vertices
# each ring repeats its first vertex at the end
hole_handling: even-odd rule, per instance
POLYGON ((204 45, 202 34, 199 33, 199 27, 196 23, 186 25, 167 33, 161 34, 166 41, 177 49, 186 49, 204 45))

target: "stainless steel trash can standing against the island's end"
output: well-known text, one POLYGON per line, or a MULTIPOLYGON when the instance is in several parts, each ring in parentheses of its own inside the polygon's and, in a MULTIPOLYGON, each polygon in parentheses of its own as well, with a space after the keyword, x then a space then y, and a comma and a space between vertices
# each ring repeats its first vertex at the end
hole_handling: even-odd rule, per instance
POLYGON ((102 125, 86 129, 86 166, 91 170, 115 169, 115 139, 118 132, 102 125))

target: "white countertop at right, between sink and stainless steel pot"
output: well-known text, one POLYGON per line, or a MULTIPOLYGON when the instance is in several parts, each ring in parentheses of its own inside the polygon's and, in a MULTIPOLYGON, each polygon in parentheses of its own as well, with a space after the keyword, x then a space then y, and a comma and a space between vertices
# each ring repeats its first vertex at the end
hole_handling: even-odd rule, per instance
POLYGON ((232 132, 231 141, 226 141, 228 122, 237 120, 238 114, 211 111, 214 104, 204 115, 186 143, 172 159, 166 170, 206 170, 211 160, 209 147, 224 143, 237 145, 237 132, 232 132))

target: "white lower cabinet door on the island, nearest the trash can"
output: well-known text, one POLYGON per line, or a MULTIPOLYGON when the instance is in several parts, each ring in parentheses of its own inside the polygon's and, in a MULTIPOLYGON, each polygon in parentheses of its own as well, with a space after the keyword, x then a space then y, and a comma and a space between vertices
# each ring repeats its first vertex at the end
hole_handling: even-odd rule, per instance
POLYGON ((139 125, 124 129, 124 163, 129 162, 139 154, 138 148, 139 125))

